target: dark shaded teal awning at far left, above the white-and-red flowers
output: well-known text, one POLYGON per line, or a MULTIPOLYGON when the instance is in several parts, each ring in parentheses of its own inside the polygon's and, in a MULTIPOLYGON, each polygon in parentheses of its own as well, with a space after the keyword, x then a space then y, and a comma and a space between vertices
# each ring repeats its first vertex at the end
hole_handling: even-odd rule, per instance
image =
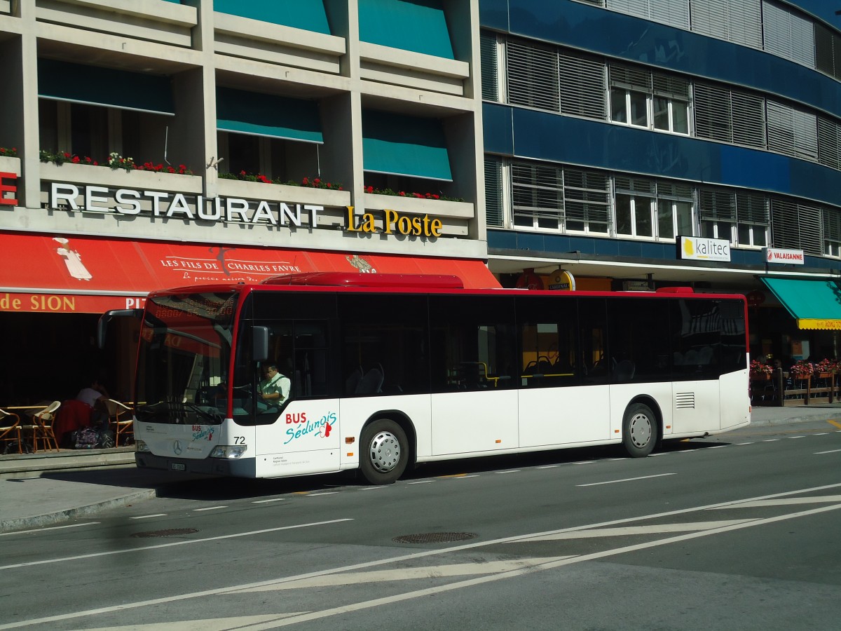
POLYGON ((153 114, 175 114, 169 77, 52 59, 38 60, 38 96, 153 114))

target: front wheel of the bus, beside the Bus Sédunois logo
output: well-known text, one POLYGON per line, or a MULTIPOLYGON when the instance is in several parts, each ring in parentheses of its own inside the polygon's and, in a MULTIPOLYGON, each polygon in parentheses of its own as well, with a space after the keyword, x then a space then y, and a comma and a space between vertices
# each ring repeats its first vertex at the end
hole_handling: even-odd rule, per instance
POLYGON ((388 485, 406 470, 409 442, 406 433, 394 421, 381 418, 362 430, 359 468, 373 485, 388 485))

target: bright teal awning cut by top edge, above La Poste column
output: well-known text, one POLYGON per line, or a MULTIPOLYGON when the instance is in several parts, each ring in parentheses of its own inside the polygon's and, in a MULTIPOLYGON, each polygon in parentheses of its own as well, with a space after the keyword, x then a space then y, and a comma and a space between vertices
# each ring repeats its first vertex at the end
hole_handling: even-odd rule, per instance
POLYGON ((358 0, 359 39, 453 59, 441 0, 358 0))

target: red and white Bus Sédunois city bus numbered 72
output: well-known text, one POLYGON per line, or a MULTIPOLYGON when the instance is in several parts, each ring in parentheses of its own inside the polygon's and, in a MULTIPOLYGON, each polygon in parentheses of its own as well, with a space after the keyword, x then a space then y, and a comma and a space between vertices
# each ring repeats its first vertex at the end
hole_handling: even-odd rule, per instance
MULTIPOLYGON (((380 273, 156 291, 133 311, 135 459, 246 478, 358 469, 382 485, 493 454, 616 444, 643 457, 748 425, 746 310, 742 295, 690 288, 380 273), (285 390, 273 397, 269 367, 285 390)), ((115 315, 128 314, 103 315, 101 338, 115 315)))

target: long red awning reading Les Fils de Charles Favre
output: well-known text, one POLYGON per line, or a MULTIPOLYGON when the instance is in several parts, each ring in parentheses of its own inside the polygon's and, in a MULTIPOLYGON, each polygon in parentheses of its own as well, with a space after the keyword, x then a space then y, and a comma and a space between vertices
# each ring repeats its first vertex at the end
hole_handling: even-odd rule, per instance
POLYGON ((454 274, 466 288, 499 287, 481 261, 391 254, 231 247, 89 236, 0 233, 0 311, 102 313, 142 306, 155 289, 258 283, 283 273, 454 274))

